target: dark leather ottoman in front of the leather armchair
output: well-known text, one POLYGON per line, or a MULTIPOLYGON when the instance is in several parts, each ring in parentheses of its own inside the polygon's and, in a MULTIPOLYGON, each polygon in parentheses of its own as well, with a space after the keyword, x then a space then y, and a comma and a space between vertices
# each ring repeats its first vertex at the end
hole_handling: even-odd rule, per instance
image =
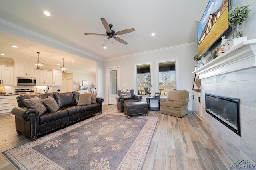
POLYGON ((142 101, 124 102, 124 114, 126 114, 128 118, 130 118, 131 115, 145 114, 148 116, 148 104, 142 101))

